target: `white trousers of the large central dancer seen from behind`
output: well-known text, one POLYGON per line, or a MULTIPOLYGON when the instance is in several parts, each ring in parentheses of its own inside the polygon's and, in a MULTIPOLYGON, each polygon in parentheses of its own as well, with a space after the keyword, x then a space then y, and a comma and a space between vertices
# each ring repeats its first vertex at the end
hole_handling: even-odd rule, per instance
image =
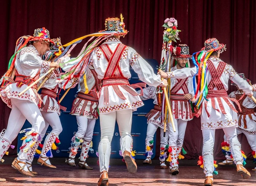
POLYGON ((99 142, 99 168, 100 172, 108 171, 111 152, 111 141, 114 135, 114 128, 117 121, 120 133, 120 147, 122 154, 124 151, 132 150, 132 109, 113 111, 99 114, 101 125, 101 141, 99 142))

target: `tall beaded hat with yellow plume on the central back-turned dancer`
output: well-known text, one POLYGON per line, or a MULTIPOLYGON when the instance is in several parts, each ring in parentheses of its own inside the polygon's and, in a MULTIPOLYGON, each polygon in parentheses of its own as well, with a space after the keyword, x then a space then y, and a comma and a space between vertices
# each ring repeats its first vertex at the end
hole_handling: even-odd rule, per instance
POLYGON ((125 24, 123 22, 123 15, 120 15, 119 18, 108 18, 105 20, 105 30, 99 32, 113 32, 114 35, 117 36, 125 36, 128 31, 125 30, 125 24), (121 19, 121 21, 120 21, 121 19))

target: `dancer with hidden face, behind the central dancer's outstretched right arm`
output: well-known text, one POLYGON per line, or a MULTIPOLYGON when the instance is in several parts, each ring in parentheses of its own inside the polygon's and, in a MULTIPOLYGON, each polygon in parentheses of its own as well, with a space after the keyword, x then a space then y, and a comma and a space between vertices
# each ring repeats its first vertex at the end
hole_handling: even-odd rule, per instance
MULTIPOLYGON (((140 90, 137 91, 140 93, 140 90)), ((166 169, 165 159, 167 158, 167 149, 168 149, 168 138, 169 135, 163 137, 163 122, 161 116, 161 107, 158 106, 157 102, 157 88, 154 86, 148 86, 143 89, 143 96, 140 96, 141 100, 154 100, 154 109, 147 113, 147 135, 146 135, 146 159, 143 161, 143 164, 151 164, 151 156, 153 155, 153 143, 154 143, 154 134, 160 127, 160 166, 162 169, 166 169)))

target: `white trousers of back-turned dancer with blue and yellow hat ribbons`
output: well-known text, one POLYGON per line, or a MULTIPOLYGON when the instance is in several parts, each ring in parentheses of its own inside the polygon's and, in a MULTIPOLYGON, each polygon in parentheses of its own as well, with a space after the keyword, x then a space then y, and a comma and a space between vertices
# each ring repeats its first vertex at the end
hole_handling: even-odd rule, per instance
MULTIPOLYGON (((230 144, 230 151, 233 155, 236 164, 242 164, 243 157, 241 153, 241 144, 237 138, 236 126, 222 128, 226 140, 230 144)), ((215 129, 203 129, 203 160, 204 160, 204 173, 206 176, 212 175, 214 171, 213 147, 215 129)))

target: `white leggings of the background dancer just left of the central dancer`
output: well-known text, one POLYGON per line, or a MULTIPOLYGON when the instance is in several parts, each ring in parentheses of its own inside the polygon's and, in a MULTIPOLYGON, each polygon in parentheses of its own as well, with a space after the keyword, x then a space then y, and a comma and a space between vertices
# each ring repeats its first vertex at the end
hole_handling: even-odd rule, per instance
POLYGON ((78 124, 78 131, 76 136, 83 138, 87 142, 91 142, 93 139, 93 129, 95 126, 96 119, 88 119, 85 116, 76 116, 78 124))

